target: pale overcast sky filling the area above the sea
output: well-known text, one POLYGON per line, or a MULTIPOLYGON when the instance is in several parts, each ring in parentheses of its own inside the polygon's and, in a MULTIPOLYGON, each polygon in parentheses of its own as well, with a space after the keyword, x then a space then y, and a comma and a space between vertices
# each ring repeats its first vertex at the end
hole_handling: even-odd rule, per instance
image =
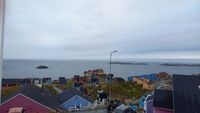
POLYGON ((200 0, 7 0, 4 58, 200 58, 200 0))

